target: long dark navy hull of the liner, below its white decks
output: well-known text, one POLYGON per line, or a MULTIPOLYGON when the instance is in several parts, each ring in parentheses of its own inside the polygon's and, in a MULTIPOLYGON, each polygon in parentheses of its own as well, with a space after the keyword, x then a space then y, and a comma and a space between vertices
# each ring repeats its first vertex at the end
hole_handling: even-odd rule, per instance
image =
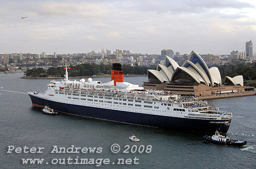
POLYGON ((137 112, 55 102, 30 94, 29 96, 31 98, 32 105, 35 107, 44 107, 45 105, 48 105, 55 111, 65 114, 171 130, 203 133, 215 133, 215 131, 218 130, 220 133, 225 134, 227 133, 231 122, 231 120, 215 121, 142 114, 137 112))

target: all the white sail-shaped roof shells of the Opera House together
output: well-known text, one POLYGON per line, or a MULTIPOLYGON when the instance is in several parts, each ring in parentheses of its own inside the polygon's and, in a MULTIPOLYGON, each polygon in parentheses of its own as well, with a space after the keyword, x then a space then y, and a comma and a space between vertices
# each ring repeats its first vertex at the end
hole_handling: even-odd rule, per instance
MULTIPOLYGON (((205 83, 207 86, 221 86, 222 79, 217 67, 208 68, 204 60, 195 51, 191 51, 188 60, 179 66, 172 58, 165 56, 164 65, 158 64, 157 70, 148 70, 148 81, 180 83, 205 83)), ((243 86, 243 76, 225 77, 225 84, 243 86)))

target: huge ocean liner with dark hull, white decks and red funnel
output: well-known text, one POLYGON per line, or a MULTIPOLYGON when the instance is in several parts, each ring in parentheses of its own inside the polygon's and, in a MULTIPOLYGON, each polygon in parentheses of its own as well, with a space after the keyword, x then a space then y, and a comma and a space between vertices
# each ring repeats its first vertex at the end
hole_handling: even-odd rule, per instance
POLYGON ((52 80, 45 92, 28 94, 35 107, 48 105, 65 114, 170 130, 225 134, 232 119, 231 112, 193 96, 123 82, 120 64, 113 64, 110 82, 71 81, 66 67, 65 79, 52 80))

